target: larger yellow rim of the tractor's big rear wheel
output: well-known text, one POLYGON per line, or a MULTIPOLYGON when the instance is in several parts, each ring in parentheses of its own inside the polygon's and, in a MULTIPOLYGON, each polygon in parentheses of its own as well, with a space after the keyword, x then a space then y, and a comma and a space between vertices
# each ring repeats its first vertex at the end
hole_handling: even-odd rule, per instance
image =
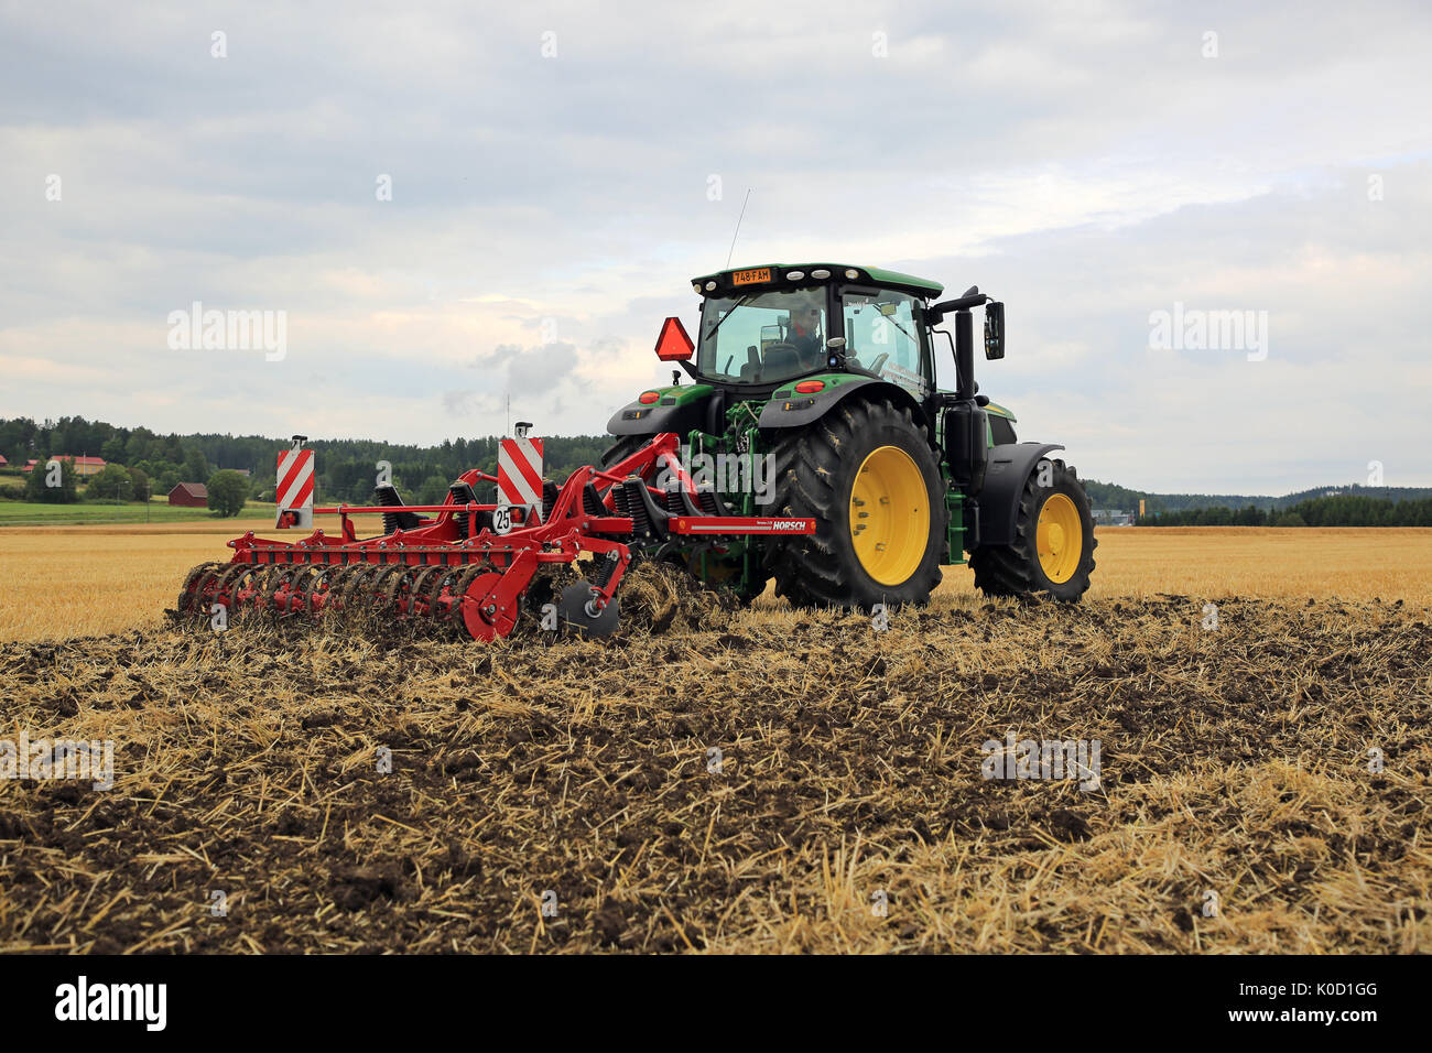
POLYGON ((929 544, 929 494, 919 466, 898 446, 882 446, 855 473, 851 543, 865 573, 904 585, 929 544))

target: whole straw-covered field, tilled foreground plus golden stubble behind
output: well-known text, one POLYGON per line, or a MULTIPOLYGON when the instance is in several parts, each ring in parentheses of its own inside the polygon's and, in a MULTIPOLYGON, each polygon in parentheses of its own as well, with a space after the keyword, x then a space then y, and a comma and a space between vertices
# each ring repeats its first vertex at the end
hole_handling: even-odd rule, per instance
POLYGON ((886 632, 636 580, 487 648, 163 623, 223 537, 0 536, 0 739, 116 744, 0 782, 0 950, 1432 950, 1432 532, 1104 530, 1077 607, 952 569, 886 632), (1007 734, 1098 787, 982 778, 1007 734))

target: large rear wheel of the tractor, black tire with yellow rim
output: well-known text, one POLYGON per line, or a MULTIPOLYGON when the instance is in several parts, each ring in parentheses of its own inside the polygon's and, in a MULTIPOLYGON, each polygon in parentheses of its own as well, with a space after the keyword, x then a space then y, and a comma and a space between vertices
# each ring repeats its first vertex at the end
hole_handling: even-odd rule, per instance
POLYGON ((925 603, 941 582, 949 510, 924 425, 884 398, 846 400, 776 444, 765 511, 813 517, 770 556, 796 606, 925 603))

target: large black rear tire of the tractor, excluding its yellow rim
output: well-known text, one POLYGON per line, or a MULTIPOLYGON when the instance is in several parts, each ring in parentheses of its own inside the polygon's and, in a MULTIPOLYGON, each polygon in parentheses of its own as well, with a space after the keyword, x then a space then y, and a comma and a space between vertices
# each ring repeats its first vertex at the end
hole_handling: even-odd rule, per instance
POLYGON ((775 500, 769 514, 813 517, 812 536, 790 537, 772 549, 769 567, 776 595, 803 607, 859 607, 875 603, 924 605, 941 582, 948 546, 949 510, 928 433, 908 408, 884 398, 846 398, 825 417, 785 434, 775 448, 775 500), (851 534, 851 497, 865 458, 886 446, 915 463, 929 504, 929 534, 914 570, 882 583, 862 564, 851 534))

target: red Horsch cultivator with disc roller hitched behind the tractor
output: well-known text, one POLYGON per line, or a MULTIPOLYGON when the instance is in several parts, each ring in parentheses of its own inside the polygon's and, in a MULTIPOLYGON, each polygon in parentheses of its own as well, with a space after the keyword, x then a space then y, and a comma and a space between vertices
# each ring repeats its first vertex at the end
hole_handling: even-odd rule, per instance
POLYGON ((616 592, 633 559, 660 557, 664 546, 695 539, 719 552, 739 537, 815 533, 812 519, 726 514, 715 490, 693 484, 674 434, 656 436, 607 470, 577 468, 560 489, 546 483, 540 509, 478 503, 474 487, 497 481, 471 470, 442 504, 404 506, 392 487, 379 487, 378 506, 312 509, 339 517, 338 537, 314 530, 288 543, 251 530, 229 542, 229 563, 189 573, 179 613, 347 610, 460 625, 491 640, 527 610, 547 628, 560 619, 603 635, 617 628, 616 592), (670 481, 657 489, 663 477, 670 481), (359 513, 381 513, 384 533, 359 539, 348 519, 359 513), (566 570, 573 580, 563 586, 544 570, 566 570))

